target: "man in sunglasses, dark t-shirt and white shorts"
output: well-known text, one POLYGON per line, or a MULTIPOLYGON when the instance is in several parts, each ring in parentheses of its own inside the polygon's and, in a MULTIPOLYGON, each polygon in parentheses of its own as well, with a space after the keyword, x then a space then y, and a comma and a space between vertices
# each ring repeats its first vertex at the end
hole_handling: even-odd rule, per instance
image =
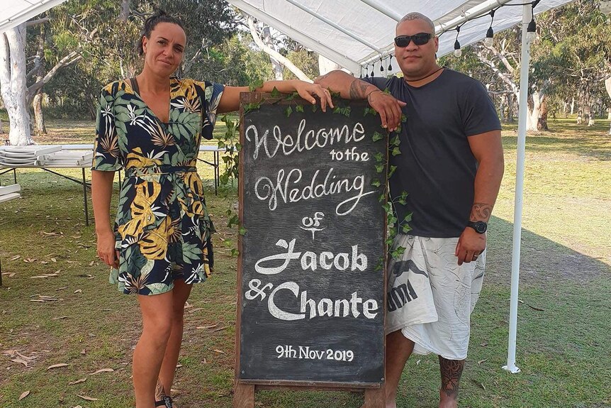
POLYGON ((503 177, 500 123, 480 82, 437 65, 439 40, 429 18, 409 13, 396 35, 403 78, 360 80, 334 71, 315 82, 344 98, 367 99, 389 131, 407 116, 401 154, 390 158, 398 166, 389 180, 391 197, 409 194, 405 206, 394 203, 398 219, 413 216, 410 234, 396 238, 405 252, 388 265, 386 407, 396 407, 413 352, 439 355, 439 407, 457 407, 486 260, 486 223, 503 177))

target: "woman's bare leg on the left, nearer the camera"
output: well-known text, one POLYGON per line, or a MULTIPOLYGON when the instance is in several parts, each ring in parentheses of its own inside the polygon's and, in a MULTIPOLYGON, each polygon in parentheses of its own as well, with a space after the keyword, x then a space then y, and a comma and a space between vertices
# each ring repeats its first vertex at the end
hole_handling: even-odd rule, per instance
POLYGON ((142 334, 133 356, 136 408, 155 407, 155 385, 172 332, 172 292, 139 295, 142 334))

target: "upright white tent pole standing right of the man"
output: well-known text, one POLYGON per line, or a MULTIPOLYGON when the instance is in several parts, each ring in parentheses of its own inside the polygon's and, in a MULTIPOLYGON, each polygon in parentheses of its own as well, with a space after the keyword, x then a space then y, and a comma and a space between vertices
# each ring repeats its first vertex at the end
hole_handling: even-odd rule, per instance
POLYGON ((520 373, 515 365, 517 338, 517 294, 520 283, 520 245, 522 241, 522 202, 524 199, 524 159, 526 155, 526 121, 528 115, 528 72, 530 70, 530 40, 527 26, 532 19, 532 6, 522 7, 522 60, 520 62, 520 111, 517 122, 517 162, 515 165, 515 204, 513 212, 513 251, 511 257, 511 299, 509 311, 509 344, 507 365, 510 373, 520 373))

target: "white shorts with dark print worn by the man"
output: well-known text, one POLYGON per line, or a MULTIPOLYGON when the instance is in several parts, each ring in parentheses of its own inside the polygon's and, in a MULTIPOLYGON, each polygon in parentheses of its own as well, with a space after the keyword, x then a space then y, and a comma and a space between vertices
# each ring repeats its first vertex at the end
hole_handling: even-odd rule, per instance
POLYGON ((416 354, 466 358, 486 250, 459 266, 454 255, 458 239, 399 234, 393 244, 405 252, 388 263, 386 333, 400 330, 414 341, 416 354))

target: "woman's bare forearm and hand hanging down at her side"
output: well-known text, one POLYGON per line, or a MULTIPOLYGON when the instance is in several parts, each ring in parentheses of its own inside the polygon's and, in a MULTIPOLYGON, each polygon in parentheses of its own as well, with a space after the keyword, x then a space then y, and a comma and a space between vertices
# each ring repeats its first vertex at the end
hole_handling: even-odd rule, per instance
POLYGON ((91 202, 98 236, 98 256, 103 263, 118 268, 115 234, 111 228, 111 197, 115 172, 91 170, 91 202))

